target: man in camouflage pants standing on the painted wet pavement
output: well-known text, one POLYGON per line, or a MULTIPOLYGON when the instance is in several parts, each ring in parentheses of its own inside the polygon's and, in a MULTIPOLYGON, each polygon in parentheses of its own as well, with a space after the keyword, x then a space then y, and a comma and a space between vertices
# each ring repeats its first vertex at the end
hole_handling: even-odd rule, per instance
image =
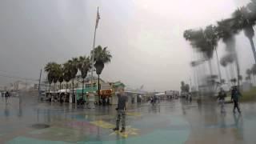
POLYGON ((126 107, 127 107, 128 97, 124 94, 124 90, 120 89, 118 93, 118 107, 116 110, 118 111, 117 114, 117 122, 116 127, 113 129, 114 131, 119 130, 119 123, 122 120, 122 130, 121 133, 126 131, 126 107))

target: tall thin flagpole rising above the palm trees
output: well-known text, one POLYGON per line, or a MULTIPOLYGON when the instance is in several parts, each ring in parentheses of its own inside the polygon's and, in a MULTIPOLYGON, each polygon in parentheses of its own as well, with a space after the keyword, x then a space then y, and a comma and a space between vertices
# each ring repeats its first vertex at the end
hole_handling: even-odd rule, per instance
MULTIPOLYGON (((98 7, 97 7, 98 9, 98 7)), ((95 22, 95 28, 94 28, 94 44, 93 44, 93 50, 91 52, 91 74, 90 74, 90 88, 91 88, 91 93, 94 91, 94 48, 95 48, 95 38, 96 38, 96 30, 97 30, 97 18, 98 18, 98 10, 97 10, 97 15, 96 15, 96 22, 95 22)))

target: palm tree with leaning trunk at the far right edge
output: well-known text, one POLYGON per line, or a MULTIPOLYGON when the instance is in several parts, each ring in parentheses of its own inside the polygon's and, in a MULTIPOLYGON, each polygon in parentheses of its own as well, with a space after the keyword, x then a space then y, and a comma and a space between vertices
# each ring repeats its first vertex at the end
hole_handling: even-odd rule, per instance
POLYGON ((250 46, 254 54, 254 61, 256 64, 256 51, 254 46, 254 25, 255 20, 253 20, 254 15, 250 13, 250 11, 246 7, 241 7, 238 10, 235 10, 232 14, 235 24, 234 25, 236 29, 243 30, 244 34, 250 41, 250 46))

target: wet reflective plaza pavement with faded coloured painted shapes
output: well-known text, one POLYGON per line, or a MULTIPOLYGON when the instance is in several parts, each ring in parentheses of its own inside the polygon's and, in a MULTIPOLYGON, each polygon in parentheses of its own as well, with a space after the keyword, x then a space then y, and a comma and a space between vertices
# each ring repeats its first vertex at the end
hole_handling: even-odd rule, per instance
POLYGON ((0 99, 0 143, 256 143, 256 105, 243 103, 242 114, 226 114, 217 104, 198 106, 181 100, 134 104, 126 112, 126 133, 114 132, 115 106, 0 99))

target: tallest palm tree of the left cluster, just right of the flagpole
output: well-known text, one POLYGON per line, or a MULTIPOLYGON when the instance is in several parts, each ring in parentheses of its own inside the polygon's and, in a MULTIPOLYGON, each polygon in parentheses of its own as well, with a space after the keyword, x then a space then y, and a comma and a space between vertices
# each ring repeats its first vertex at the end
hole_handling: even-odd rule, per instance
POLYGON ((102 46, 97 46, 94 49, 94 67, 96 68, 96 74, 98 74, 98 101, 100 101, 100 86, 99 86, 99 76, 102 74, 105 64, 111 62, 112 55, 107 47, 102 49, 102 46))

